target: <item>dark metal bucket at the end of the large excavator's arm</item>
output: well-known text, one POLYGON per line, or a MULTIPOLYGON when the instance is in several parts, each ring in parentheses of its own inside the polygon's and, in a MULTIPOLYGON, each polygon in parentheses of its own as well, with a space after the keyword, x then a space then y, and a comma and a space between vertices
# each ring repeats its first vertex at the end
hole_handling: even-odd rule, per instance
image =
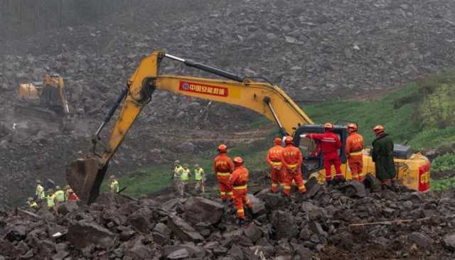
POLYGON ((88 205, 100 194, 106 169, 107 166, 102 168, 97 158, 79 158, 66 169, 66 178, 80 200, 88 205))

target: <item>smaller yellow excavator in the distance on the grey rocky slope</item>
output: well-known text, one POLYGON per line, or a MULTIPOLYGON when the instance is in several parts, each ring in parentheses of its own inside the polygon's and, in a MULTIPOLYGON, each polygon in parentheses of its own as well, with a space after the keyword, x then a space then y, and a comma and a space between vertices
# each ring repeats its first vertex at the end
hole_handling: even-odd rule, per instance
POLYGON ((20 84, 17 96, 24 101, 14 106, 17 114, 45 121, 62 121, 70 113, 63 77, 58 74, 45 75, 43 82, 20 84))

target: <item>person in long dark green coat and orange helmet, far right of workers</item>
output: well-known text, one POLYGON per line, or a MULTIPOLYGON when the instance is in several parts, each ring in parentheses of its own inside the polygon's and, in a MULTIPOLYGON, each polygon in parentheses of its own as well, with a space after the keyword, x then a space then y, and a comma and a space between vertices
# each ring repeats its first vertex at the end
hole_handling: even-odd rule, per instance
POLYGON ((384 126, 375 126, 373 131, 376 134, 376 139, 373 141, 371 158, 375 162, 376 177, 380 180, 382 189, 385 190, 387 188, 387 180, 394 184, 397 176, 395 163, 393 162, 393 141, 385 133, 384 126))

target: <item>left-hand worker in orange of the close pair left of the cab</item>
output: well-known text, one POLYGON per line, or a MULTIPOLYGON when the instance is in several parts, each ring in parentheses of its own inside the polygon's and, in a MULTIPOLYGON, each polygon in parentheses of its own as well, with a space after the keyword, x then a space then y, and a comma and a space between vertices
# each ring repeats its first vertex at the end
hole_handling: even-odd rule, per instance
POLYGON ((275 146, 267 152, 267 163, 270 166, 270 179, 272 180, 272 193, 278 191, 278 184, 284 183, 283 176, 283 149, 282 139, 274 139, 275 146))

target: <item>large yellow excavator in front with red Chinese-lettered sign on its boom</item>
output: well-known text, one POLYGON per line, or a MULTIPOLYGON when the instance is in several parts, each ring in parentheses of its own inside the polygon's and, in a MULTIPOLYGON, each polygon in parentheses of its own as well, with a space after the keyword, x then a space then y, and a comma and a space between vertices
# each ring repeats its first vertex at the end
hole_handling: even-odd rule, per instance
MULTIPOLYGON (((68 183, 84 202, 90 204, 96 200, 109 160, 114 156, 141 110, 151 101, 151 96, 155 90, 166 90, 188 97, 235 104, 263 114, 264 117, 277 124, 282 136, 294 136, 294 145, 301 148, 304 156, 303 168, 306 176, 325 173, 322 163, 323 155, 314 156, 314 153, 311 153, 316 144, 311 143, 309 139, 301 139, 304 134, 322 133, 323 126, 314 124, 279 87, 267 80, 255 82, 253 79, 255 78, 240 77, 225 70, 184 60, 161 50, 154 51, 141 60, 139 67, 127 82, 127 87, 119 95, 97 129, 95 137, 92 139, 93 148, 90 155, 79 158, 68 166, 68 183), (159 65, 164 58, 176 60, 189 67, 210 72, 227 80, 159 75, 159 65), (119 118, 114 124, 109 143, 102 143, 100 132, 123 99, 125 102, 119 118), (97 153, 98 145, 104 148, 102 153, 97 153)), ((348 136, 346 126, 336 125, 334 131, 340 136, 344 147, 348 136)), ((343 175, 349 180, 351 176, 350 170, 346 166, 344 148, 341 148, 340 156, 343 161, 343 175)), ((374 164, 366 150, 364 151, 364 160, 365 172, 374 174, 374 164)), ((399 178, 405 186, 420 192, 429 190, 429 160, 426 157, 418 153, 412 154, 410 148, 402 146, 396 151, 395 163, 402 165, 402 167, 398 167, 399 178)))

